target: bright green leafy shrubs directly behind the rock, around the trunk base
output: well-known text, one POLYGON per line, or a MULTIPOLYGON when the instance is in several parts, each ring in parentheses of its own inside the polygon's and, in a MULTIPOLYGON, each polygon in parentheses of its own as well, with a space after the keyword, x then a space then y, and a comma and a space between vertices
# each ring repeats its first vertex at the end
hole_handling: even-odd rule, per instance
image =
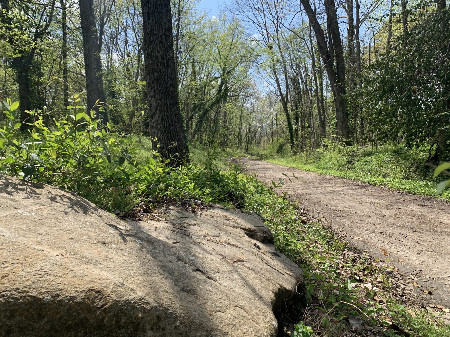
MULTIPOLYGON (((75 104, 79 98, 74 96, 75 104)), ((103 125, 82 106, 68 106, 62 120, 44 122, 45 111, 27 111, 28 132, 20 131, 18 102, 3 103, 0 126, 0 173, 45 182, 75 192, 109 212, 128 212, 140 202, 162 198, 199 199, 241 205, 248 177, 238 165, 223 173, 211 157, 206 165, 165 166, 136 139, 103 125)))

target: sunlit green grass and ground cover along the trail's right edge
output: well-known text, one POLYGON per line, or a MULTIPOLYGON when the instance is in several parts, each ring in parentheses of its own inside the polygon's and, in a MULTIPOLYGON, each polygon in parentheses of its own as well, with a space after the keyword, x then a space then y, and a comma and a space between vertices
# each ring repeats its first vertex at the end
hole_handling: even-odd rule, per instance
MULTIPOLYGON (((309 155, 269 157, 271 163, 298 168, 305 171, 355 179, 377 186, 409 193, 437 196, 436 186, 444 180, 443 175, 433 178, 432 169, 425 166, 427 154, 403 147, 382 147, 378 152, 371 149, 342 148, 330 146, 309 155)), ((450 201, 450 189, 438 196, 450 201)))

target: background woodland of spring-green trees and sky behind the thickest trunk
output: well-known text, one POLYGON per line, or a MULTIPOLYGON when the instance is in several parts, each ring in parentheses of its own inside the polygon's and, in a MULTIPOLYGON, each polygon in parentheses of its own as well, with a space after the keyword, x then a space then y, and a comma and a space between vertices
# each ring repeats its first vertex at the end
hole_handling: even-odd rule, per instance
MULTIPOLYGON (((0 4, 0 100, 51 121, 72 90, 83 93, 78 104, 105 102, 101 116, 124 133, 152 136, 139 3, 0 4)), ((296 154, 341 141, 449 158, 445 0, 232 0, 212 18, 173 0, 171 12, 191 146, 296 154)))

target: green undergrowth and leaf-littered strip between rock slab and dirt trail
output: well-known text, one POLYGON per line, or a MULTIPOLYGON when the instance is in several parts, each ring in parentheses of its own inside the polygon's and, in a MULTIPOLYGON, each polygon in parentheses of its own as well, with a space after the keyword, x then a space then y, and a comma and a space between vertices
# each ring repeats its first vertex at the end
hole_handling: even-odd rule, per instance
MULTIPOLYGON (((76 97, 74 98, 76 101, 76 97)), ((93 113, 70 106, 65 118, 29 111, 20 130, 18 102, 2 106, 0 173, 75 192, 120 217, 151 214, 158 204, 220 204, 261 215, 276 248, 302 267, 299 296, 280 314, 280 334, 290 336, 445 337, 450 326, 398 291, 393 267, 369 257, 323 227, 273 186, 247 175, 231 152, 191 151, 191 163, 165 165, 148 138, 117 132, 93 113)))

